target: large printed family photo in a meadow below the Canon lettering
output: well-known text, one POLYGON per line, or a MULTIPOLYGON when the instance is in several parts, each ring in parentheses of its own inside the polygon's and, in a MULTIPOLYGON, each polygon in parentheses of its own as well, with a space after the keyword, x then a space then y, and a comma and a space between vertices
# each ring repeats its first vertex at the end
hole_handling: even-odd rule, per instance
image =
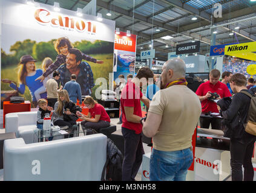
MULTIPOLYGON (((101 40, 71 43, 68 37, 50 42, 16 42, 10 48, 10 51, 16 49, 15 55, 6 54, 1 49, 1 90, 18 90, 19 95, 31 101, 31 107, 38 107, 39 99, 47 98, 47 81, 53 78, 54 71, 58 71, 59 89, 71 80, 71 74, 75 74, 82 95, 94 96, 95 80, 103 77, 109 82, 108 74, 113 72, 113 46, 113 42, 101 40), (18 55, 21 56, 19 62, 18 55), (13 65, 15 60, 18 67, 13 65)), ((7 96, 1 93, 1 103, 5 98, 7 96)))

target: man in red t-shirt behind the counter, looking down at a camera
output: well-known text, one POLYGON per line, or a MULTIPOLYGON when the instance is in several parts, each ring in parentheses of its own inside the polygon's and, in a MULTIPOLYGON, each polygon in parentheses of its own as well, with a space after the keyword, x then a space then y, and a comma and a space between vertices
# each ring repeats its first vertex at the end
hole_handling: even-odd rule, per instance
MULTIPOLYGON (((208 100, 211 97, 211 93, 216 92, 219 95, 218 99, 232 96, 229 92, 228 86, 218 81, 219 79, 220 71, 217 69, 212 69, 209 73, 209 81, 200 84, 199 88, 195 92, 201 101, 202 113, 218 113, 217 103, 208 100)), ((209 128, 210 124, 213 129, 220 129, 221 119, 215 117, 200 117, 201 128, 209 128)))

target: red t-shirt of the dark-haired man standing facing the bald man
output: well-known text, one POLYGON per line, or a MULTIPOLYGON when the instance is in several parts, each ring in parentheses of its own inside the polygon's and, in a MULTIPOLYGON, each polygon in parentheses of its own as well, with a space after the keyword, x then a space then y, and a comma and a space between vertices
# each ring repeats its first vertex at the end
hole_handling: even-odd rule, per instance
POLYGON ((120 99, 122 108, 122 127, 134 130, 136 134, 140 134, 142 132, 142 124, 127 121, 125 116, 125 107, 134 107, 133 115, 142 117, 142 109, 140 106, 140 98, 142 98, 142 96, 143 94, 140 92, 140 88, 133 82, 128 81, 122 90, 120 99))

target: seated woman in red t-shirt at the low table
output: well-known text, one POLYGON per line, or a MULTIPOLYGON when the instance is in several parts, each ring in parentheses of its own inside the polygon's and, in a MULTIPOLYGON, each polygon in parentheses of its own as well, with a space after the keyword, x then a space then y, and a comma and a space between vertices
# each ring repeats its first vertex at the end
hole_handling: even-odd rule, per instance
POLYGON ((91 128, 99 132, 100 128, 110 126, 110 116, 108 116, 108 113, 101 104, 94 101, 91 96, 86 96, 83 103, 89 109, 88 116, 78 111, 76 112, 76 115, 84 120, 81 122, 83 130, 91 128))

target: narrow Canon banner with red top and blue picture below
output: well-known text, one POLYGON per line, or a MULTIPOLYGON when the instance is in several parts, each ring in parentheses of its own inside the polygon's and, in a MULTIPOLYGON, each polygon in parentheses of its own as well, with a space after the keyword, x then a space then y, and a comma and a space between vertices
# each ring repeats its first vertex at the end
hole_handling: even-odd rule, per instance
POLYGON ((125 32, 115 35, 114 39, 114 81, 116 84, 119 75, 122 74, 126 78, 128 74, 134 75, 136 61, 136 40, 137 36, 131 34, 126 36, 125 32))

